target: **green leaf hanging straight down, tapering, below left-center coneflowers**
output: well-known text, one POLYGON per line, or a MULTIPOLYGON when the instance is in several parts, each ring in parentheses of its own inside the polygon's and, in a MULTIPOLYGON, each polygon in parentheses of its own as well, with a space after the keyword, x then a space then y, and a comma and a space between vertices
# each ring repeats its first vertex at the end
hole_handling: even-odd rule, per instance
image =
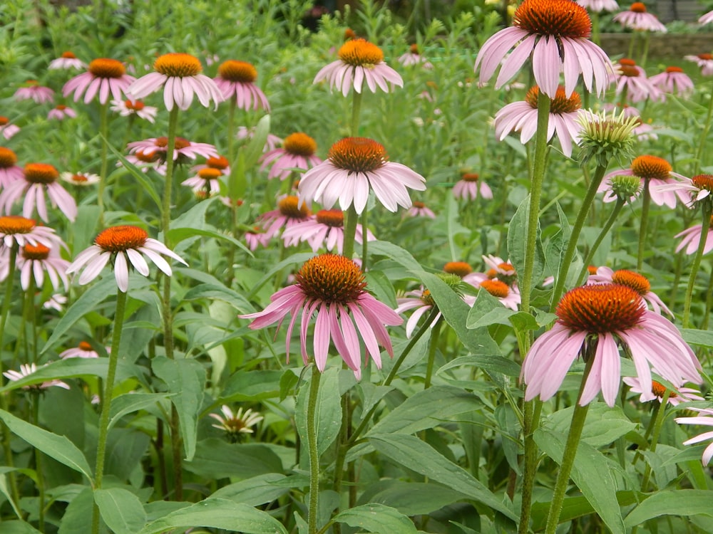
POLYGON ((168 391, 173 393, 171 402, 178 412, 185 457, 190 460, 195 454, 198 412, 205 387, 205 369, 196 360, 170 360, 167 357, 155 357, 151 368, 168 386, 168 391))

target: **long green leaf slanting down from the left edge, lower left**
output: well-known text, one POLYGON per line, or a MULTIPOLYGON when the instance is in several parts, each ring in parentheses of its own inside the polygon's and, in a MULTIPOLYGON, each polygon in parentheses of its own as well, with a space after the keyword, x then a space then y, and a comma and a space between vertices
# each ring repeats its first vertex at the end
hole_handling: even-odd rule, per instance
POLYGON ((58 436, 41 429, 39 426, 29 424, 4 410, 0 410, 0 419, 4 421, 13 434, 20 436, 31 446, 34 446, 35 449, 42 451, 61 464, 79 471, 90 481, 92 480, 91 467, 89 467, 84 454, 65 436, 58 436))

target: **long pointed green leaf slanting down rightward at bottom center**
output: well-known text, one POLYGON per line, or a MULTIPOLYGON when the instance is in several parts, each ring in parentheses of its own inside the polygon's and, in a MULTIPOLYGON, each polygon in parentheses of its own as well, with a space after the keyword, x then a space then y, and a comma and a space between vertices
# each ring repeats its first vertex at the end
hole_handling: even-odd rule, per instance
POLYGON ((501 498, 483 486, 461 466, 453 464, 433 447, 415 436, 408 434, 374 434, 369 436, 369 443, 374 449, 396 464, 427 476, 429 480, 458 491, 464 496, 483 503, 497 510, 512 520, 517 520, 515 513, 503 503, 501 498))

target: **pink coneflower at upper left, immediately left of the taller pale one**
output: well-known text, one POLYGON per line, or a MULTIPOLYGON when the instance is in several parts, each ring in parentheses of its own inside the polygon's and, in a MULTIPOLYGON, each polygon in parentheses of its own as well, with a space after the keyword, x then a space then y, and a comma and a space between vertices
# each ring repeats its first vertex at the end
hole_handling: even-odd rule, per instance
POLYGON ((84 95, 84 103, 88 104, 98 94, 99 103, 106 104, 109 93, 114 100, 121 100, 134 77, 126 73, 123 63, 116 59, 98 58, 89 63, 86 73, 75 76, 62 88, 62 95, 67 97, 74 93, 74 101, 78 102, 84 95))

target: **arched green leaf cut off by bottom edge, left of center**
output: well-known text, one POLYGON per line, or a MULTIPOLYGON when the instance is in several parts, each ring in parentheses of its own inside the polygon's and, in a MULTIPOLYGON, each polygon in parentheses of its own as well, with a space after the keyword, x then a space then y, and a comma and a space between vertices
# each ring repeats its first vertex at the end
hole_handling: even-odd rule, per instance
POLYGON ((207 498, 152 521, 138 534, 161 534, 185 527, 225 528, 245 534, 287 534, 277 519, 247 504, 207 498))

